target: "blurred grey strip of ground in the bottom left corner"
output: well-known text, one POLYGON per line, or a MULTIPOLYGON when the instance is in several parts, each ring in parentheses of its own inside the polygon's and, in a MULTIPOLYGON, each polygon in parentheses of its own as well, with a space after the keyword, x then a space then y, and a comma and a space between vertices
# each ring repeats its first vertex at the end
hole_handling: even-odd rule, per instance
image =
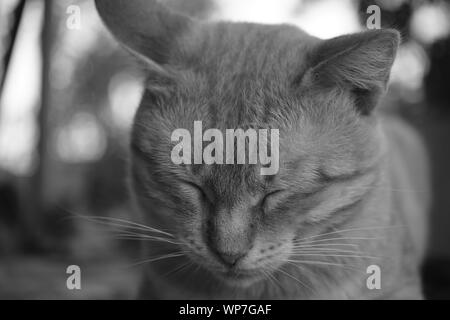
POLYGON ((0 299, 131 299, 137 273, 130 261, 11 256, 0 264, 0 299), (68 290, 66 268, 81 268, 81 290, 68 290))

